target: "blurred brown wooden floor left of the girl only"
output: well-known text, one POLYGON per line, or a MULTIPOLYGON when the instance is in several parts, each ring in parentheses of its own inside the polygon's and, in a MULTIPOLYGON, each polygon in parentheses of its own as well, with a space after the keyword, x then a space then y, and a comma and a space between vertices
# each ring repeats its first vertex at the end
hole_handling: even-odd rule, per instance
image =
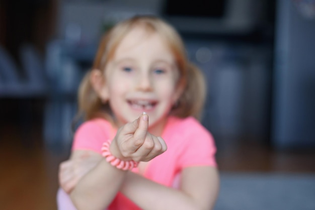
POLYGON ((64 154, 51 152, 38 142, 27 144, 21 133, 12 128, 2 130, 0 141, 1 209, 57 209, 58 164, 64 154))

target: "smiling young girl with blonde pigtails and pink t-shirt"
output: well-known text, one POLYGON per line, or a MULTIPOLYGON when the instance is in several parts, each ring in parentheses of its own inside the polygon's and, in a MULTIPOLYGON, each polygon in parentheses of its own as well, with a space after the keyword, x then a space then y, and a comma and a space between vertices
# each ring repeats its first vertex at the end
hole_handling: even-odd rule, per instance
POLYGON ((196 120, 204 96, 174 28, 152 16, 118 23, 80 87, 86 121, 60 164, 59 209, 211 209, 219 178, 196 120))

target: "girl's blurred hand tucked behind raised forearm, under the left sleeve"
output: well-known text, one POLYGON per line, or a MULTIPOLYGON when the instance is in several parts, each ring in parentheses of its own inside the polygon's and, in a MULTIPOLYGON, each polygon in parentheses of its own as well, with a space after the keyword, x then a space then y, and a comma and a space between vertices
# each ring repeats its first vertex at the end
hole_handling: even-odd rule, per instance
POLYGON ((59 184, 61 188, 70 193, 77 182, 102 159, 102 156, 90 151, 77 151, 80 156, 66 160, 59 165, 59 184))

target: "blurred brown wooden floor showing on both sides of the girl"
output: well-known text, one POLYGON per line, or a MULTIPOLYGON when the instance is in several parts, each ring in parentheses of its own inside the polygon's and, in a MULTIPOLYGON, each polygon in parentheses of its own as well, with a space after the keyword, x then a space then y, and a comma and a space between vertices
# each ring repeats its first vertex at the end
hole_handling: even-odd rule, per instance
MULTIPOLYGON (((36 120, 36 119, 35 119, 36 120)), ((68 152, 46 148, 41 122, 21 127, 15 120, 0 124, 0 203, 2 210, 56 209, 58 164, 68 152)), ((218 145, 221 172, 315 174, 313 151, 274 151, 255 141, 218 145)))

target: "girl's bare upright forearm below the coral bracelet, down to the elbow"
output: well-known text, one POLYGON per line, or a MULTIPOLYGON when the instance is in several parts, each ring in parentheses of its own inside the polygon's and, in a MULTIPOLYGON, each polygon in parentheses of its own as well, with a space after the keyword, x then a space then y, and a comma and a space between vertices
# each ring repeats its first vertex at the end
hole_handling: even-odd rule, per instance
POLYGON ((114 199, 126 171, 117 169, 105 159, 87 173, 70 193, 77 209, 104 209, 114 199))

